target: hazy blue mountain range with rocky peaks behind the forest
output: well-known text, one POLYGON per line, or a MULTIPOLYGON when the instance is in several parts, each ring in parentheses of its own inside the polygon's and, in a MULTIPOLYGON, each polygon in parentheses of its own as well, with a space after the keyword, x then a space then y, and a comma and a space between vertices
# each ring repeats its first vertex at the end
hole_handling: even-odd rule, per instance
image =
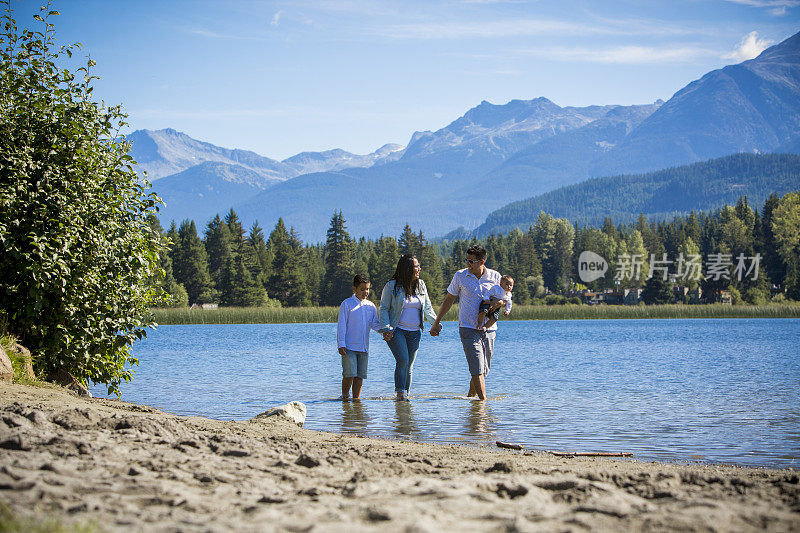
MULTIPOLYGON (((283 217, 309 242, 342 210, 358 236, 428 236, 484 223, 503 206, 589 178, 730 154, 800 153, 800 33, 757 58, 707 73, 668 101, 561 107, 547 98, 481 102, 403 148, 304 152, 276 161, 174 130, 128 136, 165 199, 162 222, 200 227, 233 207, 246 224, 283 217)), ((523 224, 525 225, 525 224, 523 224)))

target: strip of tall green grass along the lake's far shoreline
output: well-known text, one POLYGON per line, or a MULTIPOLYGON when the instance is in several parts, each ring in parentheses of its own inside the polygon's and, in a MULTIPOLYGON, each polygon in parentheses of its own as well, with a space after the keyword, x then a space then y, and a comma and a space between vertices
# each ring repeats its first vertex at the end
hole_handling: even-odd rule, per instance
MULTIPOLYGON (((153 309, 163 325, 292 324, 336 322, 338 307, 222 307, 219 309, 153 309)), ((458 307, 445 316, 457 320, 458 307)), ((637 318, 800 318, 800 305, 515 305, 502 320, 586 320, 637 318)))

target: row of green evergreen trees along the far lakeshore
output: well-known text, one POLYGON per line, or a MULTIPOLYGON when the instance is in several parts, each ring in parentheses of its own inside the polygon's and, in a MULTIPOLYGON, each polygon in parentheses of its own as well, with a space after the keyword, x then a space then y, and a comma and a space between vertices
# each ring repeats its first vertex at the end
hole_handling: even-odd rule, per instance
POLYGON ((169 245, 160 257, 164 276, 159 283, 171 295, 165 303, 173 306, 338 305, 351 294, 354 273, 369 275, 371 297, 377 300, 405 253, 417 256, 431 299, 438 302, 453 274, 465 267, 466 250, 474 243, 487 249, 489 267, 515 278, 514 299, 519 304, 534 303, 548 293, 568 296, 583 288, 643 288, 645 301, 663 303, 674 299, 673 284, 689 290, 700 287, 710 301, 723 290, 750 303, 762 303, 776 293, 800 299, 797 192, 783 198, 771 195, 760 212, 748 204, 747 197, 741 197, 735 206, 711 213, 692 212, 669 222, 651 222, 640 215, 635 224, 615 224, 606 218, 600 228, 575 225, 542 212, 527 231, 437 243, 408 225, 397 238, 354 239, 342 212, 333 214, 324 245, 304 244, 282 219, 268 238, 257 222, 246 231, 233 210, 224 219, 214 217, 202 236, 191 220, 180 226, 173 222, 166 233, 155 217, 150 223, 169 245), (605 258, 611 274, 581 284, 577 262, 586 250, 605 258), (674 263, 678 257, 699 256, 706 261, 713 254, 729 257, 733 263, 740 254, 760 255, 757 279, 752 270, 747 276, 709 279, 705 270, 703 276, 679 280, 662 275, 666 268, 662 258, 674 263), (633 256, 642 259, 642 275, 615 276, 625 267, 619 261, 633 256), (646 279, 651 259, 656 274, 646 279))

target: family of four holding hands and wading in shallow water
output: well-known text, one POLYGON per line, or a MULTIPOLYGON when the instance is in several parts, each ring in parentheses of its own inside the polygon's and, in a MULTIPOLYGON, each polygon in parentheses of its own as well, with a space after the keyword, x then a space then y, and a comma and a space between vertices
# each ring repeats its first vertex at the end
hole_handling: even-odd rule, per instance
POLYGON ((394 390, 397 400, 407 400, 414 360, 422 338, 423 323, 431 323, 431 336, 442 331, 442 318, 458 299, 458 330, 470 373, 467 396, 486 399, 489 373, 501 307, 511 312, 514 279, 486 268, 486 250, 480 245, 467 249, 467 268, 459 270, 447 287, 438 313, 434 311, 420 264, 411 254, 400 257, 397 269, 381 291, 380 309, 367 298, 370 280, 353 278, 353 296, 339 307, 337 345, 342 357, 342 399, 357 400, 367 378, 369 330, 383 335, 394 355, 394 390))

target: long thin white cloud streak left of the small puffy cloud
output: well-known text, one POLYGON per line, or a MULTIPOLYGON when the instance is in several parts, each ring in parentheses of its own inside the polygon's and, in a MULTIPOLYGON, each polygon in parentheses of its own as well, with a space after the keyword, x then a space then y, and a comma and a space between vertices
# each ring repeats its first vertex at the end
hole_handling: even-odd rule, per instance
POLYGON ((698 57, 715 56, 719 52, 701 47, 615 46, 607 48, 589 47, 544 47, 520 51, 522 55, 537 56, 552 61, 581 63, 603 63, 640 65, 651 63, 685 63, 698 57))

